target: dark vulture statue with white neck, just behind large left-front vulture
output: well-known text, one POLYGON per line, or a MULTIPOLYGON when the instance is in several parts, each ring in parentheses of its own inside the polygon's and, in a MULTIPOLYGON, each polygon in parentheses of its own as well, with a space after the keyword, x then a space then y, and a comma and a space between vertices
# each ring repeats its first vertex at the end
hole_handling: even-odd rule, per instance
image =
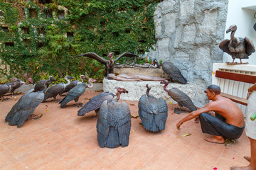
POLYGON ((70 79, 73 79, 73 77, 65 76, 65 80, 68 81, 67 84, 62 82, 62 83, 56 84, 55 86, 51 86, 50 89, 46 91, 46 95, 43 98, 43 102, 45 102, 48 98, 52 98, 52 97, 55 99, 55 101, 57 101, 56 96, 58 94, 63 93, 63 91, 65 90, 65 87, 68 86, 68 84, 70 84, 70 79))

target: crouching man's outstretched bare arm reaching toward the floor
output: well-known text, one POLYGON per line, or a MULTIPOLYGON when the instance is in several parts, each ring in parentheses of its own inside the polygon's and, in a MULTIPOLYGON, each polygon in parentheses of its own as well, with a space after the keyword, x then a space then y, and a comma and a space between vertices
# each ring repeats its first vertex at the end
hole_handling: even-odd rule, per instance
POLYGON ((189 113, 186 117, 182 118, 181 120, 178 121, 176 128, 178 130, 181 130, 181 125, 188 121, 191 120, 193 118, 196 118, 198 115, 200 115, 201 113, 207 113, 208 111, 210 111, 210 108, 212 107, 213 102, 208 103, 206 106, 204 106, 203 108, 198 109, 197 111, 193 111, 191 113, 189 113))

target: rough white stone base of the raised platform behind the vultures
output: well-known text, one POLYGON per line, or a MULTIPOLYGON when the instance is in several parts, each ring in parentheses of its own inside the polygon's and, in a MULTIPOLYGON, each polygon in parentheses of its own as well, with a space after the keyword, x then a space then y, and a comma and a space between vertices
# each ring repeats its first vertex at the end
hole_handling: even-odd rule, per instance
MULTIPOLYGON (((114 92, 115 86, 124 86, 124 89, 129 91, 129 94, 122 94, 120 96, 120 100, 125 101, 139 101, 139 98, 146 94, 146 84, 151 84, 151 90, 149 94, 156 98, 164 98, 164 100, 169 103, 173 102, 176 103, 166 91, 164 91, 164 84, 160 84, 160 81, 117 81, 117 80, 110 80, 110 79, 103 79, 103 90, 114 92)), ((193 84, 178 84, 178 83, 171 83, 166 88, 171 89, 176 87, 177 89, 183 91, 187 94, 191 99, 196 92, 196 86, 193 84)))

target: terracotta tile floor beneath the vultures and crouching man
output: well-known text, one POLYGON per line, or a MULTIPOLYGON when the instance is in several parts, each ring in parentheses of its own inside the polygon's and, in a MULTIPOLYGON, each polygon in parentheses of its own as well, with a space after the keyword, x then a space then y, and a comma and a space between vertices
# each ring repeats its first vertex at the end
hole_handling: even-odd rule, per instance
MULTIPOLYGON (((100 92, 87 91, 80 101, 86 103, 86 98, 97 94, 100 92)), ((129 146, 109 149, 97 144, 95 113, 79 117, 74 101, 60 108, 50 98, 36 108, 36 115, 43 114, 39 120, 29 119, 21 128, 8 125, 4 118, 20 97, 0 102, 0 169, 225 170, 248 164, 243 159, 250 155, 250 142, 245 134, 225 147, 204 141, 200 125, 193 120, 178 131, 176 123, 186 113, 175 114, 171 104, 166 130, 148 132, 139 125, 139 118, 132 118, 129 146), (180 137, 188 132, 192 135, 180 137)), ((126 102, 132 115, 138 115, 138 103, 126 102)))

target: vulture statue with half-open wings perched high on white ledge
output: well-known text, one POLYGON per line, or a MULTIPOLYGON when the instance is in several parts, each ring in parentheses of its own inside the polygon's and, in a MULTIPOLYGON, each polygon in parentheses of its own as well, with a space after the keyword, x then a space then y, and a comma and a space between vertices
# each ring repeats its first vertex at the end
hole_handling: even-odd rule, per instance
POLYGON ((231 32, 230 40, 225 39, 220 42, 219 47, 223 52, 227 52, 233 58, 233 62, 228 64, 247 64, 242 63, 242 59, 248 59, 252 52, 255 52, 255 47, 252 40, 249 38, 235 38, 235 31, 237 30, 236 25, 232 25, 226 30, 226 33, 231 32), (234 62, 235 59, 240 59, 240 63, 234 62))

